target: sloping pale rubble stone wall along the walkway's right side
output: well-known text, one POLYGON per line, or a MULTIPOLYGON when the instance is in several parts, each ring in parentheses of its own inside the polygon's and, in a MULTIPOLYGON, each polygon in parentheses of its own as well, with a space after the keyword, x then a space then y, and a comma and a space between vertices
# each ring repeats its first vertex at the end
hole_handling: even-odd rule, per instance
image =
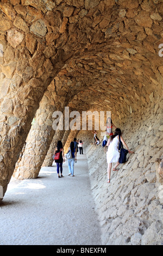
MULTIPOLYGON (((134 154, 120 164, 118 172, 111 172, 110 184, 106 183, 103 148, 87 146, 90 182, 104 245, 163 244, 162 107, 162 99, 154 97, 147 108, 135 112, 124 124, 112 117, 134 154)), ((79 136, 85 135, 81 131, 79 136)), ((86 140, 89 139, 87 135, 86 140)))

